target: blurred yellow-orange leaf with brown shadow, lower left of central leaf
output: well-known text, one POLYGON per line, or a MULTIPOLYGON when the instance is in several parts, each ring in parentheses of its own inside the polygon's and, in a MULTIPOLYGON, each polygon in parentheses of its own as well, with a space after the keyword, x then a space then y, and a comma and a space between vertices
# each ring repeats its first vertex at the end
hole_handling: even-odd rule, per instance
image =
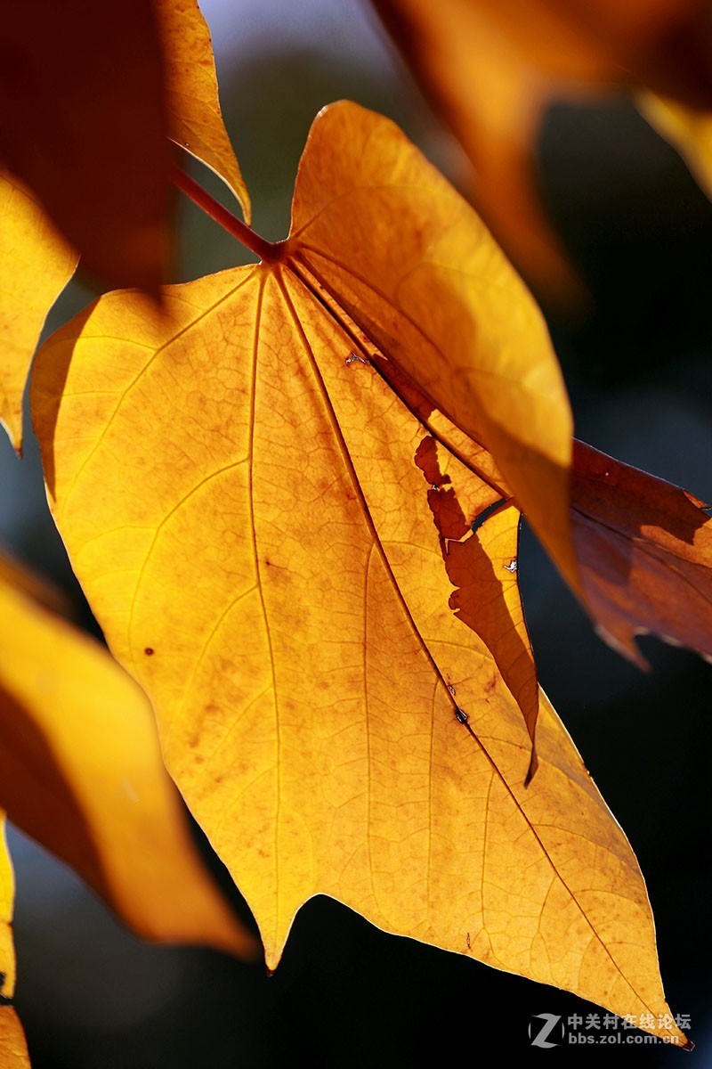
POLYGON ((148 702, 95 641, 0 578, 0 805, 138 934, 254 956, 192 846, 148 702))

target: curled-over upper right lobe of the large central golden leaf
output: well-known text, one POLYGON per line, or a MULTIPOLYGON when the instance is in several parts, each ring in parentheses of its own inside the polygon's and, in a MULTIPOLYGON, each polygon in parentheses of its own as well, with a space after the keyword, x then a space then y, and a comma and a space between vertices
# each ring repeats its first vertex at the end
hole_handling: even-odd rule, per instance
POLYGON ((302 157, 285 251, 336 317, 493 455, 575 587, 558 362, 537 306, 452 186, 391 123, 327 109, 302 157))

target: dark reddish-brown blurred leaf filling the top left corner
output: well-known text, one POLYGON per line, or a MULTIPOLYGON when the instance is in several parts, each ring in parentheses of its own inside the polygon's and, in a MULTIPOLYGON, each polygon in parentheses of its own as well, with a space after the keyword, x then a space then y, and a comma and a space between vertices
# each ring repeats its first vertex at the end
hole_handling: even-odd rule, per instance
POLYGON ((157 292, 170 149, 149 0, 12 0, 0 24, 0 159, 113 285, 157 292))

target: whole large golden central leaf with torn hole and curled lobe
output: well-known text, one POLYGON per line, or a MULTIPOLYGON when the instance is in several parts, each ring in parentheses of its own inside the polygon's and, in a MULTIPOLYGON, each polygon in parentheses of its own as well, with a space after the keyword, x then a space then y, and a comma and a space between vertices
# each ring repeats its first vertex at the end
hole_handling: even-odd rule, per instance
POLYGON ((101 298, 41 352, 33 418, 77 573, 268 962, 326 893, 618 1013, 666 1013, 630 846, 540 694, 524 787, 528 649, 480 637, 448 574, 476 539, 471 586, 524 645, 511 502, 463 528, 500 491, 485 456, 479 478, 425 427, 434 401, 567 537, 568 408, 528 296, 354 105, 318 118, 292 235, 266 252, 168 289, 161 324, 136 294, 101 298), (429 402, 392 389, 395 360, 429 402))

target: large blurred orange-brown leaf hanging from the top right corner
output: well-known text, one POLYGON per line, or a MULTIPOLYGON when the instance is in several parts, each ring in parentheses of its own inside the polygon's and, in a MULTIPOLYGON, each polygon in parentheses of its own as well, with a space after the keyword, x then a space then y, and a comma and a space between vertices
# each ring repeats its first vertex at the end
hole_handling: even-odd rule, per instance
POLYGON ((585 295, 541 202, 536 146, 547 107, 647 86, 712 107, 703 0, 374 0, 474 167, 473 203, 538 291, 585 295))

